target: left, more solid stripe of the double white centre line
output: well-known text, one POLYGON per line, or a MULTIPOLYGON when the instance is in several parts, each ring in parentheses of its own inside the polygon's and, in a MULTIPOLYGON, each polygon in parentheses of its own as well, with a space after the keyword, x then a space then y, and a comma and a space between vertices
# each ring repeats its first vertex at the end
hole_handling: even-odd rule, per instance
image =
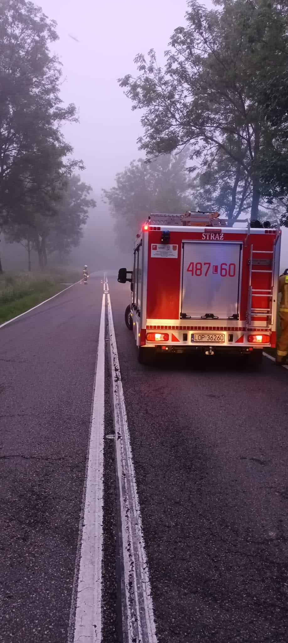
MULTIPOLYGON (((102 639, 103 451, 104 451, 105 294, 102 297, 84 523, 76 598, 74 643, 102 639)), ((71 606, 73 610, 73 605, 71 606)), ((68 637, 69 638, 69 637, 68 637)))

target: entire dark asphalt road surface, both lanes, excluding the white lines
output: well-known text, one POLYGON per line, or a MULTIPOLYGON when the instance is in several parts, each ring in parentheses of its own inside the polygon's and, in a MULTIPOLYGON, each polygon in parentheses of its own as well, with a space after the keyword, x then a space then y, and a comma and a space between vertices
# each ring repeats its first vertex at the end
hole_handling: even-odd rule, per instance
MULTIPOLYGON (((288 372, 138 364, 109 279, 158 643, 284 643, 288 372)), ((0 329, 0 640, 66 643, 103 285, 0 329)), ((105 433, 113 431, 105 373, 105 433)), ((114 443, 104 452, 103 641, 121 641, 114 443)), ((73 601, 72 601, 73 602, 73 601)))

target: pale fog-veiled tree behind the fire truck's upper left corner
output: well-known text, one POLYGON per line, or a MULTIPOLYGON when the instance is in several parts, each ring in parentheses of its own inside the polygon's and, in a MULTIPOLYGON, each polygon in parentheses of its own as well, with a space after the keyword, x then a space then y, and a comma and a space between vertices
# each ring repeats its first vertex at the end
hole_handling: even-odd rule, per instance
POLYGON ((116 185, 103 190, 116 219, 118 244, 131 249, 141 223, 151 212, 181 213, 193 210, 187 154, 160 156, 152 163, 132 161, 116 174, 116 185))

